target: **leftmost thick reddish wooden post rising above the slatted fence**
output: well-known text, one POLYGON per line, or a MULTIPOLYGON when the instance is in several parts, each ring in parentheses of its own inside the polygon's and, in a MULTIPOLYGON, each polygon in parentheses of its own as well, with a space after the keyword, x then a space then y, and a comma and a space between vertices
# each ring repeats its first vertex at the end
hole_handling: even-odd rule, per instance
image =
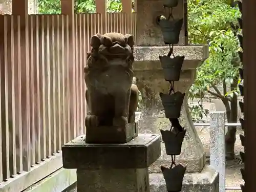
MULTIPOLYGON (((29 18, 28 0, 12 0, 12 14, 19 15, 20 26, 24 30, 20 32, 20 63, 22 82, 22 144, 23 146, 23 170, 31 169, 31 140, 30 140, 30 61, 29 61, 29 18)), ((15 19, 18 20, 18 19, 15 19)), ((15 24, 14 24, 15 25, 15 24)), ((33 104, 33 103, 32 103, 33 104)))

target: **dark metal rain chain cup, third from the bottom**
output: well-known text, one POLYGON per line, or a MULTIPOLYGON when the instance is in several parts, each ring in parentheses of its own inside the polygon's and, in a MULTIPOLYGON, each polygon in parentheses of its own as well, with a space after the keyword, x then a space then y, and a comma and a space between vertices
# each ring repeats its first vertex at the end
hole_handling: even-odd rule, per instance
POLYGON ((165 117, 168 119, 179 118, 185 93, 176 92, 172 95, 160 93, 159 95, 164 107, 165 117))

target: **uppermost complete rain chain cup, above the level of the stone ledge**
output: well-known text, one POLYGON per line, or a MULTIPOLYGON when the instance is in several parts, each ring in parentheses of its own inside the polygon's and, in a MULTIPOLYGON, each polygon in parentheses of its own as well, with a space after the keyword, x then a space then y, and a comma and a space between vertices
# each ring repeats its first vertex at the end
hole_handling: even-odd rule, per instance
POLYGON ((178 20, 167 20, 163 18, 159 20, 159 26, 165 44, 178 44, 182 24, 183 18, 178 20))

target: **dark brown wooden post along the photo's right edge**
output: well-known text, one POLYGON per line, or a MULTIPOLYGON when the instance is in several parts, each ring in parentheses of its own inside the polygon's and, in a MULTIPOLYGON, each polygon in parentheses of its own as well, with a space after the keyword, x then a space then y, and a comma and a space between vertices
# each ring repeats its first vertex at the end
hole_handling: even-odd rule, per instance
POLYGON ((245 120, 245 191, 256 191, 256 1, 243 1, 243 67, 244 67, 244 120, 245 120))

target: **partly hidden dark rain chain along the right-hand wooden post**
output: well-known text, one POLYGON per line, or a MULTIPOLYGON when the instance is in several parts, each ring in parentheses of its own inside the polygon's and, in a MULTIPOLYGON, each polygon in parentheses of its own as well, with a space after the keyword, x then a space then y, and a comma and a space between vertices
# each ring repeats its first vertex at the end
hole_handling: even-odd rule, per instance
MULTIPOLYGON (((238 4, 239 10, 240 10, 240 12, 242 14, 242 2, 241 1, 237 1, 237 4, 238 4)), ((242 20, 242 18, 238 18, 238 24, 239 24, 239 27, 237 27, 237 26, 235 26, 233 24, 231 26, 233 28, 234 33, 237 33, 235 35, 238 36, 238 39, 239 39, 239 42, 240 42, 240 47, 241 47, 241 49, 243 49, 243 36, 241 34, 239 34, 239 28, 241 30, 243 29, 243 20, 242 20)), ((239 68, 239 74, 240 74, 241 82, 243 83, 243 80, 244 80, 243 52, 239 51, 238 55, 239 55, 240 61, 242 63, 242 68, 239 68)), ((244 86, 243 86, 242 83, 239 84, 238 87, 239 87, 241 96, 244 96, 244 86)), ((240 106, 241 112, 244 113, 244 102, 243 101, 239 101, 239 106, 240 106)), ((244 119, 240 118, 239 121, 241 123, 242 130, 244 130, 244 133, 246 133, 246 127, 244 126, 244 119)), ((244 147, 244 152, 240 152, 240 156, 241 156, 242 162, 245 163, 245 144, 244 144, 245 136, 244 135, 240 135, 240 140, 241 140, 242 146, 244 147)), ((242 178, 245 181, 245 170, 244 170, 244 168, 241 168, 240 170, 241 170, 242 178)), ((242 192, 246 191, 245 190, 245 185, 241 184, 241 190, 242 190, 242 192)))

